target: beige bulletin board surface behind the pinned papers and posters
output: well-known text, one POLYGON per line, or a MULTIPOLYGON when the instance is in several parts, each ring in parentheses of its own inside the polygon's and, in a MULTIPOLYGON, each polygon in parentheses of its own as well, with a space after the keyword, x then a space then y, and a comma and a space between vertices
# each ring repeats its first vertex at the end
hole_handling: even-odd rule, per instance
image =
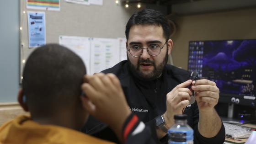
MULTIPOLYGON (((136 5, 125 8, 116 0, 103 0, 103 5, 81 5, 59 0, 59 11, 28 9, 27 1, 20 0, 20 82, 23 67, 35 48, 28 47, 28 11, 45 13, 46 43, 59 43, 59 36, 125 37, 125 26, 136 5)), ((125 42, 123 42, 125 43, 125 42)))

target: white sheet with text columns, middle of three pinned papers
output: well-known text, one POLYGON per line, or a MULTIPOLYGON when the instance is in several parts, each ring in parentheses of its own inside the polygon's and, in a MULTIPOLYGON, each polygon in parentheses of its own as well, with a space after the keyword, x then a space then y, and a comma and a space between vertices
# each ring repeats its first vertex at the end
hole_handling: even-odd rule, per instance
POLYGON ((111 68, 120 61, 116 38, 91 40, 91 74, 111 68))

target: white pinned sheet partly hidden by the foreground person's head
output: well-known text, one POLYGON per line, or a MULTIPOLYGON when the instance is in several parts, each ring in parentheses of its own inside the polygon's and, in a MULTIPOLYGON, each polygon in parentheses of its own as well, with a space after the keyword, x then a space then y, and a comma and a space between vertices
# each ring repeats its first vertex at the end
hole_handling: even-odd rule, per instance
POLYGON ((85 64, 86 73, 90 74, 91 42, 89 37, 59 36, 59 44, 79 55, 85 64))

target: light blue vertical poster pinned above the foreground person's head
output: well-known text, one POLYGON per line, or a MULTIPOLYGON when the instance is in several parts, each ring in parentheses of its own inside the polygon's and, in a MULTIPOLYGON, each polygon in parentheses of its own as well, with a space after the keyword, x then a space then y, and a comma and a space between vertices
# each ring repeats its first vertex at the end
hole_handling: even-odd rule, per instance
POLYGON ((28 44, 29 48, 44 45, 45 40, 45 13, 38 11, 28 11, 28 44))

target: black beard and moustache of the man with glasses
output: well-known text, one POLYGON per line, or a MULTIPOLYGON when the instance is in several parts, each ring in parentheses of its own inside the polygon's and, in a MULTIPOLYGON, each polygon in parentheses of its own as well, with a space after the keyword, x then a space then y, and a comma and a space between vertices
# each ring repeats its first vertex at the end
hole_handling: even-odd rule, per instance
POLYGON ((155 65, 154 61, 150 61, 149 59, 139 59, 137 63, 137 67, 131 63, 131 61, 128 59, 128 65, 132 72, 132 74, 138 78, 139 80, 143 81, 150 81, 157 79, 163 72, 163 69, 165 68, 167 61, 168 61, 168 51, 166 51, 165 58, 163 59, 162 63, 160 63, 159 66, 155 65), (139 71, 139 64, 140 63, 151 63, 154 66, 154 69, 149 74, 145 75, 141 71, 139 71))

